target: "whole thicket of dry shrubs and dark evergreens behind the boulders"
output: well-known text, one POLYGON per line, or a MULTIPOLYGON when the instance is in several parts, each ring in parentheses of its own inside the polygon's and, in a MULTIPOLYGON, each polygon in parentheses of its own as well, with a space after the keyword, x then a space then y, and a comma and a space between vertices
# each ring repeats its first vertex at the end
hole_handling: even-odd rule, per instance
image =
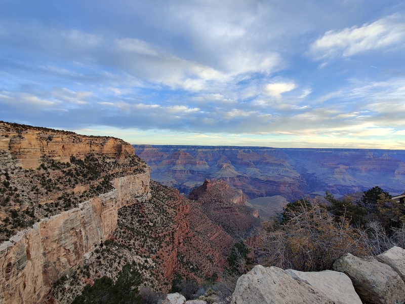
POLYGON ((279 218, 264 223, 257 262, 321 271, 347 252, 366 256, 405 245, 405 207, 381 188, 364 192, 358 202, 329 193, 325 198, 290 203, 279 218))

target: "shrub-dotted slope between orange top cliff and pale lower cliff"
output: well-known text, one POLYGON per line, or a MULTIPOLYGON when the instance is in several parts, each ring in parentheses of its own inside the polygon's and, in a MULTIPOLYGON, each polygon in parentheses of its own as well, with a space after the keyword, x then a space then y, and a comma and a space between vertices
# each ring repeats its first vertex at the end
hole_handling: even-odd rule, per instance
POLYGON ((89 154, 83 160, 72 156, 66 163, 45 157, 37 169, 15 165, 0 169, 0 241, 42 218, 111 191, 114 178, 142 173, 145 168, 135 155, 123 162, 89 154))

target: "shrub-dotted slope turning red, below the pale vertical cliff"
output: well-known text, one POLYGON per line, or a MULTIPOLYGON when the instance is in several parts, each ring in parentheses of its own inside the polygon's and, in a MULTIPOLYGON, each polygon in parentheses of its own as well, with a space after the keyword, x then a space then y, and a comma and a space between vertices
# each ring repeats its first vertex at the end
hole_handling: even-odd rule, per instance
POLYGON ((235 242, 198 204, 176 189, 150 182, 151 199, 118 210, 112 237, 97 246, 74 276, 54 284, 49 301, 69 303, 83 285, 115 277, 128 262, 143 283, 168 292, 175 275, 202 281, 219 273, 235 242))

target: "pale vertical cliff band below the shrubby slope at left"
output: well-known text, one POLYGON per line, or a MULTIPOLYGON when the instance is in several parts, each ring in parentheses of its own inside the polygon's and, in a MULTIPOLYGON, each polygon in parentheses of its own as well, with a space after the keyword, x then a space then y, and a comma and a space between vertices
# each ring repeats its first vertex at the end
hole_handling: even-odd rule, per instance
POLYGON ((112 236, 118 209, 150 198, 149 176, 121 177, 110 193, 37 222, 0 245, 0 302, 36 303, 84 255, 112 236), (139 185, 138 187, 134 187, 139 185))

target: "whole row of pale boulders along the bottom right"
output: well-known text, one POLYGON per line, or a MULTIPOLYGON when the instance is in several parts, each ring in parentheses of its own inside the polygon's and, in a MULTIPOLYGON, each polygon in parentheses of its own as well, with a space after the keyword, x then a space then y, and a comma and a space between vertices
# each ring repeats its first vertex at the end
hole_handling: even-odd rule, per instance
POLYGON ((334 263, 335 271, 256 265, 238 279, 231 303, 404 303, 404 265, 405 250, 399 247, 377 257, 348 253, 334 263))

